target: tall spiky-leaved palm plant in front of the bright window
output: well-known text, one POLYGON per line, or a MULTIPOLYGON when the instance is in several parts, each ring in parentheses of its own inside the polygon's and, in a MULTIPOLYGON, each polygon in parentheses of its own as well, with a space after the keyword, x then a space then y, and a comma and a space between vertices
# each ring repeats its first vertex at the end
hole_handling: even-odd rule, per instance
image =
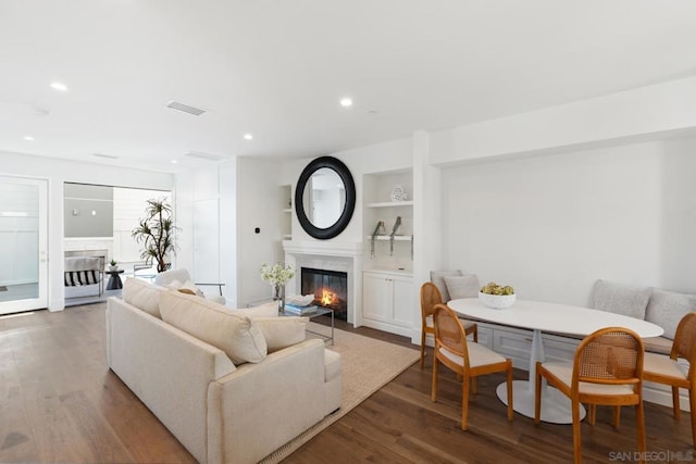
POLYGON ((130 234, 138 243, 142 243, 140 253, 146 264, 157 262, 157 272, 166 269, 170 254, 176 254, 175 235, 178 227, 174 225, 172 206, 164 199, 150 199, 145 209, 145 217, 130 234))

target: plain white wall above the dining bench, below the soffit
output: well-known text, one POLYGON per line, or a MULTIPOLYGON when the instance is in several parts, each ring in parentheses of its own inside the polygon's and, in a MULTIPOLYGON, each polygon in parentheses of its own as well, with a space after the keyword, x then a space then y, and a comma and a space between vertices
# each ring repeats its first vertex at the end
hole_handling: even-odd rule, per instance
POLYGON ((443 171, 445 266, 587 304, 597 278, 696 291, 696 138, 443 171))

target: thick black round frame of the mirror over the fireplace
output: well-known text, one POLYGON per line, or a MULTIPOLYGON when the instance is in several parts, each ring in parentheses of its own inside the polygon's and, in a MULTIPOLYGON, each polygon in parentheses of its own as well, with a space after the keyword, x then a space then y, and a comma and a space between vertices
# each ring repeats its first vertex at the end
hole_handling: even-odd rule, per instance
POLYGON ((333 156, 320 156, 310 162, 307 167, 304 167, 302 174, 300 174, 300 178, 297 180, 297 187, 295 187, 295 213, 297 214, 297 220, 300 222, 300 225, 307 234, 320 240, 326 240, 336 237, 338 234, 344 231, 344 229, 348 226, 348 223, 350 223, 355 209, 356 184, 352 180, 352 176, 350 175, 348 166, 346 166, 340 160, 333 156), (314 224, 310 222, 309 217, 307 217, 307 214, 304 213, 303 201, 303 193, 307 181, 315 171, 321 170, 322 167, 327 167, 335 171, 336 174, 338 174, 338 177, 340 177, 340 180, 343 180, 344 186, 346 187, 346 204, 344 205, 344 211, 340 213, 340 216, 334 223, 334 225, 325 229, 315 227, 314 224))

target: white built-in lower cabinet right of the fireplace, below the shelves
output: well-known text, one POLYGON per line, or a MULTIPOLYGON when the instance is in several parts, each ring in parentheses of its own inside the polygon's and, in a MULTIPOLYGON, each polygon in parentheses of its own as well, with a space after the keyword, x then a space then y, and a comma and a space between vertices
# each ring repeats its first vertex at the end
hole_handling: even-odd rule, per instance
POLYGON ((364 271, 362 273, 362 324, 411 336, 413 276, 409 273, 364 271))

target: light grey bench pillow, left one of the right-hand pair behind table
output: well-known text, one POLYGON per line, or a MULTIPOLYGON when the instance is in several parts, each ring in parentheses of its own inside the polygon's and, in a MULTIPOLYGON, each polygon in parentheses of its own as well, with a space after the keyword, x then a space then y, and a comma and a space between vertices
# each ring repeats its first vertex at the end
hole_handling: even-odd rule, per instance
POLYGON ((599 279, 593 288, 592 306, 596 310, 644 319, 651 292, 649 287, 633 287, 599 279))

